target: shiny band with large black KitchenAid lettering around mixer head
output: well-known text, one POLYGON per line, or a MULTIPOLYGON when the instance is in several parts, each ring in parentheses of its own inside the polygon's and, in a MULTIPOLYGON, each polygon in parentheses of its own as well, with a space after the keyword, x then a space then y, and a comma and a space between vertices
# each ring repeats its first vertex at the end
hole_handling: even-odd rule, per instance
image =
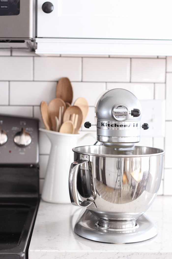
POLYGON ((140 129, 140 121, 97 121, 97 128, 103 130, 131 130, 140 129))

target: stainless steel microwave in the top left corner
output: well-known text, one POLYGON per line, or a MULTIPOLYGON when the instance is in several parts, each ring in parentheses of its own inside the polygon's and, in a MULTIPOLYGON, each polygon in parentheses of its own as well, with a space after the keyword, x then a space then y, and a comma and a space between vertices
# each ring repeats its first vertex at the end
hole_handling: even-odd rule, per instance
POLYGON ((35 0, 0 0, 0 42, 35 39, 35 0))

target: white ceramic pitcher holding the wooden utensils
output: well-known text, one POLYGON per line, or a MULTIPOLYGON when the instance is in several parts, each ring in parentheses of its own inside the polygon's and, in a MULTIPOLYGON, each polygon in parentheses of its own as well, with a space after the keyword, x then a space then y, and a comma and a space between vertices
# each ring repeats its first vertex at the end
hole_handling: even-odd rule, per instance
POLYGON ((73 162, 72 148, 84 136, 80 134, 66 134, 56 131, 39 129, 44 132, 51 141, 51 152, 47 165, 46 176, 42 191, 42 199, 51 203, 70 203, 69 197, 69 170, 73 162))

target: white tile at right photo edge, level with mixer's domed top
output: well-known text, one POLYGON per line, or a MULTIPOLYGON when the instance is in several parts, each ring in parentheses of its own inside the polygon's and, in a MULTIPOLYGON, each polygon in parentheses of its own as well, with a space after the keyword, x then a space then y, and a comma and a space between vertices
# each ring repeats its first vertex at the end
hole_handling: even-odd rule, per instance
POLYGON ((172 73, 166 75, 166 120, 172 120, 171 110, 172 100, 172 73))

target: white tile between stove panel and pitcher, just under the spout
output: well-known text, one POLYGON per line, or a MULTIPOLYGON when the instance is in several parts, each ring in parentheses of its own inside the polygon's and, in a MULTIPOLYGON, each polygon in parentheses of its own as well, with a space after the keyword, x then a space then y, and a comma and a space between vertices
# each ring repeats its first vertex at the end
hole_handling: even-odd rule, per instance
POLYGON ((51 150, 51 142, 44 132, 39 131, 39 154, 48 155, 51 150))

